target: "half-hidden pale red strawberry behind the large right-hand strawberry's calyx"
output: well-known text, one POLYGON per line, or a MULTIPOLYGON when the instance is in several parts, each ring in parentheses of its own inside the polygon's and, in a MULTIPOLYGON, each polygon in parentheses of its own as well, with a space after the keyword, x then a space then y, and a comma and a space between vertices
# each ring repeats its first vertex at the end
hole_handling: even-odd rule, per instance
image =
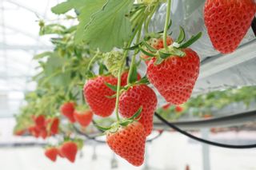
MULTIPOLYGON (((174 41, 172 38, 170 38, 170 36, 168 36, 166 38, 167 45, 171 45, 173 42, 174 41)), ((147 43, 149 45, 151 45, 154 49, 162 49, 163 48, 163 39, 162 38, 150 38, 150 40, 147 41, 147 43)), ((146 51, 148 51, 148 50, 146 49, 146 51)), ((145 60, 146 65, 149 63, 150 60, 147 60, 149 57, 146 54, 141 53, 140 57, 142 57, 142 59, 145 60)))

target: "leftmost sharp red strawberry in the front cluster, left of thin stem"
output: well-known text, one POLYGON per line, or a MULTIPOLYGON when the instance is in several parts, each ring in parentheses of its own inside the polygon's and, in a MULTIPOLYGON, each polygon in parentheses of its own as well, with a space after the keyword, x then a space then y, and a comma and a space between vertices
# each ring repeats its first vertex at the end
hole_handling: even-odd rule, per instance
POLYGON ((109 117, 114 111, 115 98, 108 98, 115 92, 105 82, 117 85, 117 79, 111 76, 98 76, 90 79, 84 86, 84 97, 93 113, 101 117, 109 117))

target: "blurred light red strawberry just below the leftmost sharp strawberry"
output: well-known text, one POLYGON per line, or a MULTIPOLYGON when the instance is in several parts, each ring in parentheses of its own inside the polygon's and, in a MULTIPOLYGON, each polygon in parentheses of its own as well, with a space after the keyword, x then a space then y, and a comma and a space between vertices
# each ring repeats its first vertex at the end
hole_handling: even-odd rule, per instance
POLYGON ((90 110, 74 111, 74 119, 78 121, 80 125, 86 127, 90 124, 93 119, 93 113, 90 110))

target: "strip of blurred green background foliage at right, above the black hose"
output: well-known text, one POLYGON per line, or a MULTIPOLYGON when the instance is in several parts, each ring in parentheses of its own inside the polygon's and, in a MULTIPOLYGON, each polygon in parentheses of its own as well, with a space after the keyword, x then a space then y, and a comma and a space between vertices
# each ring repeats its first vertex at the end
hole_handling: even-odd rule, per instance
POLYGON ((191 97, 189 101, 182 105, 185 108, 182 114, 176 114, 174 106, 170 106, 169 109, 159 108, 158 113, 170 121, 174 121, 182 117, 183 113, 192 112, 195 117, 203 117, 204 115, 214 114, 214 109, 223 109, 233 103, 242 102, 244 105, 249 106, 254 101, 256 101, 256 86, 248 86, 241 89, 226 89, 191 97))

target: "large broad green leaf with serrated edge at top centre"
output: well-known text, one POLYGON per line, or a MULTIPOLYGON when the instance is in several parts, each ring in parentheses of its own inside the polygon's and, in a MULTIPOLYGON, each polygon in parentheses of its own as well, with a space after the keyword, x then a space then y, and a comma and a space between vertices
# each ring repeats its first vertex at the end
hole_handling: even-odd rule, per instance
POLYGON ((131 34, 131 24, 126 14, 134 1, 109 0, 104 9, 94 14, 86 26, 83 40, 91 48, 99 48, 102 52, 114 47, 122 48, 131 34))

